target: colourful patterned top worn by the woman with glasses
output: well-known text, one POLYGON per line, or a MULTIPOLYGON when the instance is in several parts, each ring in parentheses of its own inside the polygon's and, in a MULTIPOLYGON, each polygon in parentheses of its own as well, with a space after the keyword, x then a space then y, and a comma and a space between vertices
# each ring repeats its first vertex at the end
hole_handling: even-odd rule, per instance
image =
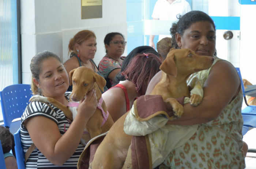
MULTIPOLYGON (((125 56, 121 56, 120 59, 124 60, 126 57, 125 56)), ((111 58, 109 58, 108 56, 104 56, 102 58, 102 60, 99 62, 99 66, 98 66, 98 70, 99 72, 103 75, 103 77, 105 78, 107 84, 106 86, 108 87, 108 89, 110 87, 112 87, 113 82, 111 79, 108 78, 108 75, 110 74, 110 72, 112 72, 113 70, 117 69, 117 68, 121 68, 122 64, 117 62, 116 60, 113 60, 111 58)))

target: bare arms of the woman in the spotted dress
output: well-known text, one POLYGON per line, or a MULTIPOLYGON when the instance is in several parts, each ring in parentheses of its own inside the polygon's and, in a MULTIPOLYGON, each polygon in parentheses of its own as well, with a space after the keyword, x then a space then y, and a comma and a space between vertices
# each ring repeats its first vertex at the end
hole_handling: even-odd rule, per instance
MULTIPOLYGON (((160 80, 161 73, 158 72, 150 80, 146 94, 150 94, 154 89, 155 84, 160 80)), ((225 107, 238 94, 239 87, 240 79, 235 68, 226 61, 215 63, 204 83, 204 97, 200 105, 193 107, 190 103, 185 104, 181 118, 168 121, 167 124, 195 125, 217 119, 225 107)))

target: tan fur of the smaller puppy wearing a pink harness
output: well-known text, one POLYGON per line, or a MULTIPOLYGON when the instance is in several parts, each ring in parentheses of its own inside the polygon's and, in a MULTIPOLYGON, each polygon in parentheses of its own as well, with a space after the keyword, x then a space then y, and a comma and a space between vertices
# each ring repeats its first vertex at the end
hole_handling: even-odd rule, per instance
MULTIPOLYGON (((71 79, 70 84, 73 83, 73 90, 70 98, 73 101, 82 100, 89 91, 92 89, 96 90, 97 100, 101 98, 101 91, 99 88, 104 91, 104 87, 106 85, 106 80, 102 78, 102 76, 95 73, 93 70, 87 67, 78 67, 69 72, 69 76, 71 79)), ((107 107, 105 102, 102 102, 102 108, 107 112, 107 107)), ((101 123, 103 121, 103 116, 100 109, 96 109, 93 116, 89 119, 86 125, 86 129, 89 134, 83 134, 83 139, 88 142, 91 138, 96 137, 102 133, 107 132, 110 127, 114 124, 110 114, 105 122, 105 124, 101 127, 101 123)))

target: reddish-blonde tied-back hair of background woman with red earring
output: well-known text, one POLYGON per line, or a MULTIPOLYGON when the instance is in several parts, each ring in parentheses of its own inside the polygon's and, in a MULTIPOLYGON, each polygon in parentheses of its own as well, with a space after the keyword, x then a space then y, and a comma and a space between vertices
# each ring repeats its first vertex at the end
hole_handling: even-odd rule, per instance
POLYGON ((72 39, 70 39, 68 44, 68 53, 69 52, 75 52, 76 55, 78 55, 78 52, 75 49, 75 44, 82 44, 85 40, 94 37, 96 39, 96 36, 93 31, 89 30, 83 30, 78 32, 72 39))

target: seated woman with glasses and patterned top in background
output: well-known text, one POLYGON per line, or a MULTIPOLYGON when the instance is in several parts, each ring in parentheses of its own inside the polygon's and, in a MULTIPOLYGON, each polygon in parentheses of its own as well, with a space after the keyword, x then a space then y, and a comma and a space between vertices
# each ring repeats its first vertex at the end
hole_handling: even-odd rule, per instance
POLYGON ((124 49, 126 42, 124 36, 118 32, 112 32, 105 36, 104 44, 106 55, 99 62, 98 70, 106 80, 106 87, 112 87, 114 77, 121 70, 125 56, 124 49))

